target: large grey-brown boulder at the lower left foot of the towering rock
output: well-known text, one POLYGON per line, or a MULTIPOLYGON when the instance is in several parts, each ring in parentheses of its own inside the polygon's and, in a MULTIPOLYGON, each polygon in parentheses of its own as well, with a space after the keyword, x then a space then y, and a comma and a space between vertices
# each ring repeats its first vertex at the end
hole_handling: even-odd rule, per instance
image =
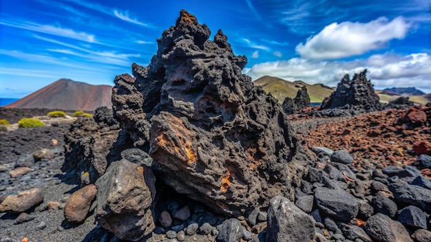
POLYGON ((155 184, 146 181, 155 179, 145 179, 151 176, 151 168, 126 159, 109 165, 96 181, 96 218, 103 228, 129 241, 138 241, 154 230, 151 202, 155 184))

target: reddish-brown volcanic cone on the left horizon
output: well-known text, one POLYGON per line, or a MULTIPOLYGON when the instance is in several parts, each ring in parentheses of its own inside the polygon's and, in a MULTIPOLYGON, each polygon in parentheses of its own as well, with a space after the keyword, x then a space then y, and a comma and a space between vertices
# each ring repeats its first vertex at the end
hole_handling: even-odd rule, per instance
POLYGON ((91 111, 101 106, 111 108, 111 96, 112 87, 109 85, 60 79, 5 107, 91 111))

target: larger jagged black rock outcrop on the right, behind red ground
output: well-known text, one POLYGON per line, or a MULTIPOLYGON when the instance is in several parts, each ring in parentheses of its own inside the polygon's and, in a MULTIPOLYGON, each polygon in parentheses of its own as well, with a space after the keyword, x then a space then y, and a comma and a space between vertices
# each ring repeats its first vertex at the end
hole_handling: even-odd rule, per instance
POLYGON ((346 74, 338 83, 337 90, 324 99, 320 110, 337 108, 366 112, 381 110, 379 96, 375 94, 370 80, 367 80, 366 72, 365 69, 364 72, 355 74, 352 80, 346 74))

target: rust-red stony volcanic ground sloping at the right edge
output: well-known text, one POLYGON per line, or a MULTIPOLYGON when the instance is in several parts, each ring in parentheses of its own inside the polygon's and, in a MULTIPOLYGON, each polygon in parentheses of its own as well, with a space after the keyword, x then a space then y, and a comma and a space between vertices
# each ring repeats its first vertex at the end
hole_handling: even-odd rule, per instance
MULTIPOLYGON (((304 122, 297 116, 292 118, 294 123, 304 122)), ((308 147, 345 149, 355 157, 358 169, 369 160, 382 166, 402 166, 413 164, 422 153, 431 155, 430 122, 431 107, 422 106, 334 119, 298 135, 308 147)), ((430 177, 431 170, 421 173, 430 177)))

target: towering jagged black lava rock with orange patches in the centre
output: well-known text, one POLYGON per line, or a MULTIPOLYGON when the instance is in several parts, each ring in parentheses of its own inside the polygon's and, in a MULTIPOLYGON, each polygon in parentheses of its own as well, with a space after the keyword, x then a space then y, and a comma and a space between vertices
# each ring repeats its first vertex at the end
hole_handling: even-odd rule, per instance
POLYGON ((293 198, 307 166, 281 105, 242 74, 246 57, 221 30, 209 36, 182 10, 151 63, 116 76, 114 117, 167 185, 216 212, 293 198))

